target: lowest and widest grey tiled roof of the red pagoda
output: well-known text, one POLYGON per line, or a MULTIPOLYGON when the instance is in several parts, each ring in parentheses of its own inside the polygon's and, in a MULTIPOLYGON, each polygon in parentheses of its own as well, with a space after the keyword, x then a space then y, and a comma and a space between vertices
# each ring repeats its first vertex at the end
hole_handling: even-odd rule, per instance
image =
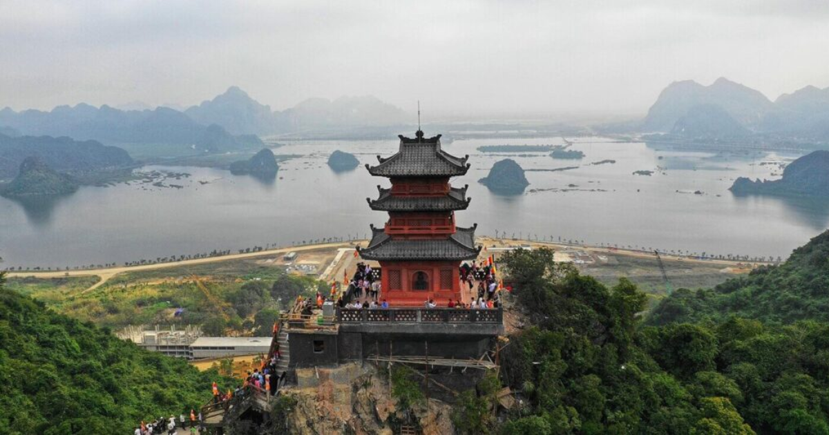
POLYGON ((367 248, 357 249, 367 260, 468 260, 478 257, 475 228, 458 228, 447 239, 392 239, 379 228, 372 228, 367 248))

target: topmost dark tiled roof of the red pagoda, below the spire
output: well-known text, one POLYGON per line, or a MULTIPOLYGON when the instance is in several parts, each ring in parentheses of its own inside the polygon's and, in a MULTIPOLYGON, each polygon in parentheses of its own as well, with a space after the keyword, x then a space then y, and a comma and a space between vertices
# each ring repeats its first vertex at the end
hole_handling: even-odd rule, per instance
MULTIPOLYGON (((422 135, 421 132, 418 132, 422 135)), ((454 157, 440 149, 440 135, 425 139, 400 136, 400 150, 393 156, 377 156, 379 165, 366 164, 373 176, 460 176, 469 169, 469 156, 454 157)))

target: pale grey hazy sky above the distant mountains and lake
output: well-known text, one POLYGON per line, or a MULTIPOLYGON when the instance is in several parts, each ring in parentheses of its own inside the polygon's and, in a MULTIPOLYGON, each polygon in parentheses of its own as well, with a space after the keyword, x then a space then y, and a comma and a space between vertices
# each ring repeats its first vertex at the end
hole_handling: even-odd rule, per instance
POLYGON ((643 114, 674 80, 829 86, 825 0, 0 2, 0 107, 273 109, 374 94, 429 114, 643 114))

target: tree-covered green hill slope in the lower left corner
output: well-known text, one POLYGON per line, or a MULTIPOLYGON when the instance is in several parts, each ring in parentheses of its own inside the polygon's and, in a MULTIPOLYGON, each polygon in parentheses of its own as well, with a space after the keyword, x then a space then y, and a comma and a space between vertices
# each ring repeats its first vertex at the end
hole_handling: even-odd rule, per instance
POLYGON ((115 338, 2 286, 0 433, 132 433, 205 404, 215 371, 115 338))

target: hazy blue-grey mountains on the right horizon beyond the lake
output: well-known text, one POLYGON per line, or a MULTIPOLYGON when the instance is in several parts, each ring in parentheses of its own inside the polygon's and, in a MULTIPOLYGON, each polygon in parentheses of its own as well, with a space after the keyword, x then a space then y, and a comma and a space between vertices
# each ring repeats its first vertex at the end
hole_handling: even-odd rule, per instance
POLYGON ((725 78, 709 86, 674 82, 659 94, 642 131, 684 138, 829 141, 829 88, 807 86, 771 101, 725 78))

